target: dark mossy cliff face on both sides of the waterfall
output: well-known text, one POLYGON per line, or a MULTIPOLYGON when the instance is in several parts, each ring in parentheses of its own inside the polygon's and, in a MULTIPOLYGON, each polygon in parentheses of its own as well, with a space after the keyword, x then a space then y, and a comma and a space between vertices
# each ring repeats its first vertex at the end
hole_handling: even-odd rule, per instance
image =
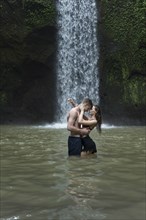
MULTIPOLYGON (((22 2, 1 3, 1 123, 53 122, 55 8, 51 0, 22 2)), ((100 105, 106 123, 145 124, 145 28, 142 1, 136 2, 98 1, 100 105)))

